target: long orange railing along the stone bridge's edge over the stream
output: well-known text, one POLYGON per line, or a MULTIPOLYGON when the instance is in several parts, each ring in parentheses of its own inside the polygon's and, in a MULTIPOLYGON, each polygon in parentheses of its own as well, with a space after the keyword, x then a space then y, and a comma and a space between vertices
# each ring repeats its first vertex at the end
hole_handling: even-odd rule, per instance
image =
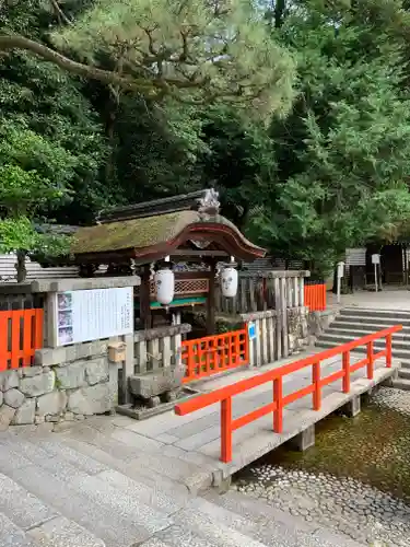
POLYGON ((386 366, 391 366, 391 336, 397 333, 402 327, 397 325, 394 327, 379 330, 358 340, 353 340, 348 344, 343 344, 337 348, 331 348, 326 351, 321 351, 315 356, 309 356, 305 359, 295 361, 294 363, 285 364, 280 369, 276 369, 265 374, 259 374, 257 376, 242 380, 236 384, 231 384, 221 389, 216 389, 212 393, 207 393, 195 397, 194 399, 187 400, 176 405, 175 414, 178 416, 185 416, 190 412, 195 412, 201 408, 209 405, 214 405, 215 403, 221 403, 221 461, 231 462, 232 461, 232 433, 236 429, 239 429, 248 423, 266 416, 268 414, 273 415, 273 431, 276 433, 281 433, 283 431, 283 408, 291 403, 312 394, 313 408, 314 410, 320 410, 321 405, 321 388, 338 380, 343 382, 343 393, 350 392, 350 374, 358 371, 362 366, 366 366, 367 379, 373 379, 374 362, 376 359, 383 357, 386 358, 386 366), (374 353, 373 344, 374 340, 378 338, 386 339, 386 348, 378 353, 374 353), (367 346, 367 354, 364 359, 350 364, 350 351, 360 346, 367 346), (342 369, 338 372, 333 372, 329 376, 320 377, 320 361, 324 359, 329 359, 331 357, 342 354, 342 369), (302 387, 294 393, 283 396, 282 386, 283 377, 293 372, 300 371, 305 366, 312 366, 312 384, 306 387, 302 387), (257 387, 267 382, 273 383, 273 400, 263 407, 257 408, 251 412, 241 416, 235 420, 232 418, 232 397, 238 395, 239 393, 247 392, 254 387, 257 387))

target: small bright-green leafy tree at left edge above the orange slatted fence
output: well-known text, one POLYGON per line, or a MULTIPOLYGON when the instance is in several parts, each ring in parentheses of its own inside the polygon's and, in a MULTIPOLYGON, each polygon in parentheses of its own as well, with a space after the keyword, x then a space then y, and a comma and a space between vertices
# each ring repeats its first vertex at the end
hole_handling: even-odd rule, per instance
POLYGON ((61 237, 38 233, 34 219, 67 196, 65 183, 75 159, 23 125, 3 123, 0 136, 0 251, 17 253, 17 281, 24 281, 30 252, 52 255, 66 248, 61 237))

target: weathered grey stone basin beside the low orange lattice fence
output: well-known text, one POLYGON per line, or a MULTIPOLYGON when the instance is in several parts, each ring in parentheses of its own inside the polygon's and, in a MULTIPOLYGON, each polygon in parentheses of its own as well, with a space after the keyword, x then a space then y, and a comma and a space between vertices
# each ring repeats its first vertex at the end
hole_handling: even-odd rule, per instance
POLYGON ((143 399, 151 399, 166 393, 178 391, 183 386, 184 368, 168 368, 162 371, 136 374, 129 379, 129 388, 132 395, 143 399))

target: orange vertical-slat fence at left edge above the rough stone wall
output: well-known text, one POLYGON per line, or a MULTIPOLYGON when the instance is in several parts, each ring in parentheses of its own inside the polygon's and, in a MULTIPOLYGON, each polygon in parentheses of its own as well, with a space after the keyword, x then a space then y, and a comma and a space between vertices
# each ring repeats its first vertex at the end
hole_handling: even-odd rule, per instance
POLYGON ((43 347, 43 310, 0 312, 0 371, 30 366, 43 347))

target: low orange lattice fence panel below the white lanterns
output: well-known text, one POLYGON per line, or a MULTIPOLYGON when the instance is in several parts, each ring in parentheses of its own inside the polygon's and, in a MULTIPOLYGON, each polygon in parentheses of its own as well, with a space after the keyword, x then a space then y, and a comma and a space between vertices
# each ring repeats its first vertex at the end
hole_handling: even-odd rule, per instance
POLYGON ((249 363, 247 329, 183 341, 184 383, 249 363))

